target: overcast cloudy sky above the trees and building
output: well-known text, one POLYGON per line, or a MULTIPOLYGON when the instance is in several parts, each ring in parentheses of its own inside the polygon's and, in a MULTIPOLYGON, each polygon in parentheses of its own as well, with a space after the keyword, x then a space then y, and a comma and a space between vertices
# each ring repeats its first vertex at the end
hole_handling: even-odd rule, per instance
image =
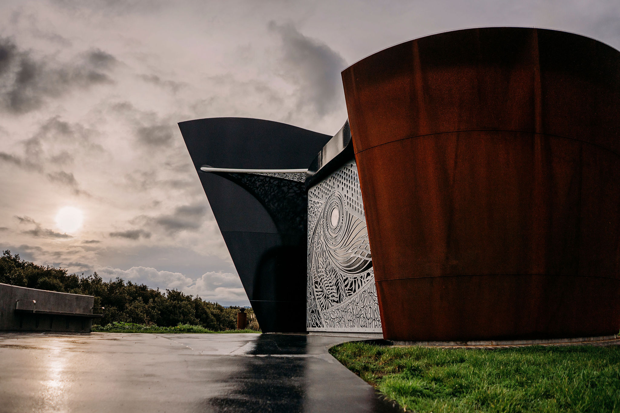
POLYGON ((340 71, 456 28, 557 28, 620 47, 614 1, 0 2, 0 248, 70 272, 247 305, 177 122, 334 134, 340 71), (83 211, 75 232, 62 207, 83 211))

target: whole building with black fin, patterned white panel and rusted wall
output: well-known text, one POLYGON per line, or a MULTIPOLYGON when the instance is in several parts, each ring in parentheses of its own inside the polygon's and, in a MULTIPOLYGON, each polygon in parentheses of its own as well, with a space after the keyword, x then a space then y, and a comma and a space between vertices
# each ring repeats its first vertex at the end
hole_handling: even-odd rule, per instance
POLYGON ((573 33, 456 30, 347 67, 333 138, 180 126, 264 331, 603 340, 620 328, 619 67, 573 33))

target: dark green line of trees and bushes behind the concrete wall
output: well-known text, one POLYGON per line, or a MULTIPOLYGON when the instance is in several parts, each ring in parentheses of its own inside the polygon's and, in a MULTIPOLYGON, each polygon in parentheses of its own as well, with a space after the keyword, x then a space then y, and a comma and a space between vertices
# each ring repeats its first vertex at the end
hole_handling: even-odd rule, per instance
MULTIPOLYGON (((200 297, 178 290, 165 293, 144 284, 121 278, 104 281, 97 272, 91 276, 67 274, 64 268, 40 266, 24 261, 19 254, 4 251, 0 258, 0 282, 33 289, 94 295, 95 307, 105 307, 105 316, 95 323, 112 321, 156 324, 169 327, 178 324, 202 326, 213 331, 236 329, 238 306, 224 308, 200 297)), ((254 312, 247 311, 250 328, 259 329, 254 312)))

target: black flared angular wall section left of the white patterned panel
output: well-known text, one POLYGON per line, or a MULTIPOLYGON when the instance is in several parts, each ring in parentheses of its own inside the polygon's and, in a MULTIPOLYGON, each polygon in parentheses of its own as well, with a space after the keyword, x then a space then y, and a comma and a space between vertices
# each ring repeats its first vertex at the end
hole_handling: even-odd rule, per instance
POLYGON ((305 169, 331 136, 249 118, 179 128, 262 331, 305 332, 305 169))

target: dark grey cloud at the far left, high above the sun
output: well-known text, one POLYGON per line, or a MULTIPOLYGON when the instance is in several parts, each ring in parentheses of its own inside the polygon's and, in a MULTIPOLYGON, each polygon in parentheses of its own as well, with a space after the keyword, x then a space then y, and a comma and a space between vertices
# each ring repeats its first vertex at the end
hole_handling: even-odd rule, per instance
POLYGON ((35 110, 47 98, 113 83, 107 72, 115 63, 111 54, 101 50, 82 53, 72 63, 59 63, 50 57, 35 57, 19 50, 13 40, 0 38, 0 102, 12 113, 35 110))

